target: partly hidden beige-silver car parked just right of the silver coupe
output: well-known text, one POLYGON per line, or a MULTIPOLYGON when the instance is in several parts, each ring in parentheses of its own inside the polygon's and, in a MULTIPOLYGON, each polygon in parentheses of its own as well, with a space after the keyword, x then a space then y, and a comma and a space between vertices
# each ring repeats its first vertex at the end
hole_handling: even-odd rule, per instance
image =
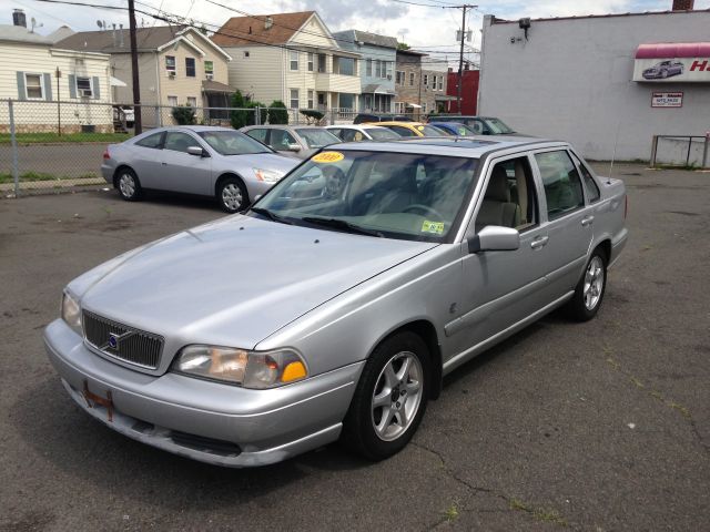
POLYGON ((296 158, 308 158, 322 147, 341 142, 317 125, 250 125, 240 131, 282 155, 296 158))

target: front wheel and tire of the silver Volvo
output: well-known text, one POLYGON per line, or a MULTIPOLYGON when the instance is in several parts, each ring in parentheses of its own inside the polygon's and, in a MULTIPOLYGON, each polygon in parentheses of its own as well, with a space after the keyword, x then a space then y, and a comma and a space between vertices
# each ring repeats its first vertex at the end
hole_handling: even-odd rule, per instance
POLYGON ((384 340, 363 369, 345 417, 343 442, 371 460, 399 452, 424 417, 430 359, 426 344, 404 331, 384 340))

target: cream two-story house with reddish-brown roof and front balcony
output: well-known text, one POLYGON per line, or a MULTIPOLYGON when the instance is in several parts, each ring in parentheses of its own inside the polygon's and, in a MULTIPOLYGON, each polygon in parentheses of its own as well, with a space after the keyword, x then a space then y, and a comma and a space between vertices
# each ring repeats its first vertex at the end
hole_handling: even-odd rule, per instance
POLYGON ((315 11, 234 17, 212 40, 233 58, 230 84, 253 100, 357 110, 361 55, 342 49, 315 11))

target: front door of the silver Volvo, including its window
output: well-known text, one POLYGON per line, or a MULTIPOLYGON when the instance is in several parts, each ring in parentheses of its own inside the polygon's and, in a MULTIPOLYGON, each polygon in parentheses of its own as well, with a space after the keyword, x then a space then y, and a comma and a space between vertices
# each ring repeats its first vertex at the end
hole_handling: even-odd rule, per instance
MULTIPOLYGON (((520 247, 479 252, 463 260, 460 320, 449 332, 455 350, 465 351, 544 308, 551 300, 546 275, 550 264, 548 232, 541 224, 540 192, 527 155, 491 161, 484 182, 474 232, 513 227, 520 247), (456 338, 458 337, 458 338, 456 338)), ((473 233, 473 232, 469 232, 473 233)))

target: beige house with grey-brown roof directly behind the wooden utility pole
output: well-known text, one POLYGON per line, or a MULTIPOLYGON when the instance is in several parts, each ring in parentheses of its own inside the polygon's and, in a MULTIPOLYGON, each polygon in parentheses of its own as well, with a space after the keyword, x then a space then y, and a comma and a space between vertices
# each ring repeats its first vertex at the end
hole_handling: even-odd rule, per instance
MULTIPOLYGON (((170 123, 170 113, 159 110, 155 114, 155 106, 229 106, 234 92, 227 84, 231 57, 205 34, 176 25, 139 28, 136 44, 145 125, 170 123)), ((110 54, 111 75, 123 82, 113 89, 114 101, 133 102, 129 30, 81 31, 58 47, 110 54)))

